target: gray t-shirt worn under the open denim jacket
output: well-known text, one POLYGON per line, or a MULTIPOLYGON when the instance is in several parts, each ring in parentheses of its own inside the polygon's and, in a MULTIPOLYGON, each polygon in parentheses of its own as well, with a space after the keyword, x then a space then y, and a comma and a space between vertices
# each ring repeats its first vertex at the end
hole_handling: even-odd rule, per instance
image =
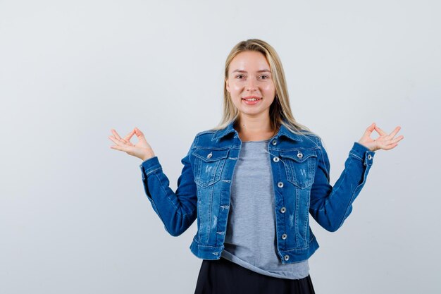
POLYGON ((309 274, 308 260, 282 264, 277 254, 268 142, 242 142, 232 176, 225 249, 221 257, 259 274, 304 278, 309 274))

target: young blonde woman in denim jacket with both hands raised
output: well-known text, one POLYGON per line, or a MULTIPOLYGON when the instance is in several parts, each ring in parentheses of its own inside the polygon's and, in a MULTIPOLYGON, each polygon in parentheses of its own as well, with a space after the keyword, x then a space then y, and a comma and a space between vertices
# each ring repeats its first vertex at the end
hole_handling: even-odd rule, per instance
POLYGON ((308 258, 318 242, 309 214, 328 231, 340 228, 374 152, 396 147, 400 128, 368 126, 330 185, 321 138, 294 119, 282 63, 259 39, 228 55, 223 102, 221 123, 198 133, 182 159, 176 191, 138 128, 124 138, 111 130, 111 148, 142 159, 147 198, 168 233, 197 220, 190 250, 204 260, 195 293, 314 293, 308 258))

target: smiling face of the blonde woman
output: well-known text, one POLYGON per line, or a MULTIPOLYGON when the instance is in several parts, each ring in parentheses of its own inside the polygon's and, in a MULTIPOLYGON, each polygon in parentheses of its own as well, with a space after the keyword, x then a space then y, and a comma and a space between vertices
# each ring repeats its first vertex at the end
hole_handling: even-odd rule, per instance
POLYGON ((230 63, 225 83, 240 116, 269 116, 275 85, 268 61, 261 52, 243 51, 237 54, 230 63))

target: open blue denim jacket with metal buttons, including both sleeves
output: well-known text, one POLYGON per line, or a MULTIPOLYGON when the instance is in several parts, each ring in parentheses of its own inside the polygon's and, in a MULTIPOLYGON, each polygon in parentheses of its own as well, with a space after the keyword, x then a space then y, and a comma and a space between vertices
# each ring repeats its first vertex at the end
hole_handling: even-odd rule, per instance
MULTIPOLYGON (((181 161, 184 166, 175 192, 158 157, 139 166, 147 198, 170 235, 182 234, 197 219, 190 250, 201 259, 221 257, 232 174, 241 145, 233 123, 223 130, 198 133, 181 161)), ((278 255, 282 264, 299 262, 318 248, 309 214, 328 231, 340 228, 366 183, 375 152, 354 142, 334 186, 330 185, 328 154, 315 135, 297 135, 280 125, 268 142, 268 152, 278 255)))

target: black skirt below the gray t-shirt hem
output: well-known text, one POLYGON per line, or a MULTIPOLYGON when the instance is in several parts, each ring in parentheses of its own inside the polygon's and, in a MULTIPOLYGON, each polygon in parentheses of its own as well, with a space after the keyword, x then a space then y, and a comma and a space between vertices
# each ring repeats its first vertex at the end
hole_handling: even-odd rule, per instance
POLYGON ((204 259, 194 294, 314 294, 311 277, 291 280, 256 273, 221 257, 204 259))

